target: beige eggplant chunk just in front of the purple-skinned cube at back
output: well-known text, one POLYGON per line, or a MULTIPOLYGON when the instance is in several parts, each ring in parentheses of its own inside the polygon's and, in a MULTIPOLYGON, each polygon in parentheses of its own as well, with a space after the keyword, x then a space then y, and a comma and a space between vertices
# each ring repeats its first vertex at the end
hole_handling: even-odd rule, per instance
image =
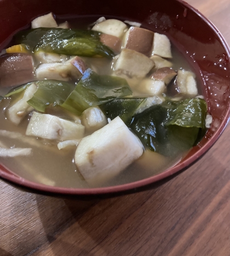
POLYGON ((123 49, 114 66, 114 71, 129 77, 143 78, 154 66, 154 62, 135 50, 123 49))

